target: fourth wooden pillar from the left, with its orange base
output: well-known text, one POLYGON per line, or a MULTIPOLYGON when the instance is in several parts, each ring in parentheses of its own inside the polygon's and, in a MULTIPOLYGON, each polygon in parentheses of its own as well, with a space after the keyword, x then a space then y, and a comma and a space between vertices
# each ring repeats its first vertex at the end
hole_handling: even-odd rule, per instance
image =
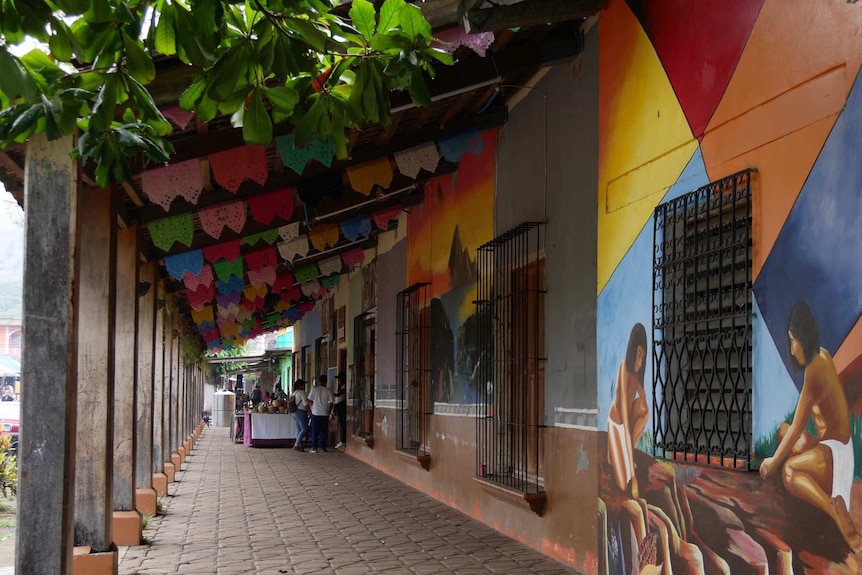
POLYGON ((156 325, 156 262, 141 264, 138 272, 138 386, 135 423, 135 509, 156 514, 158 494, 153 488, 153 359, 156 325))

